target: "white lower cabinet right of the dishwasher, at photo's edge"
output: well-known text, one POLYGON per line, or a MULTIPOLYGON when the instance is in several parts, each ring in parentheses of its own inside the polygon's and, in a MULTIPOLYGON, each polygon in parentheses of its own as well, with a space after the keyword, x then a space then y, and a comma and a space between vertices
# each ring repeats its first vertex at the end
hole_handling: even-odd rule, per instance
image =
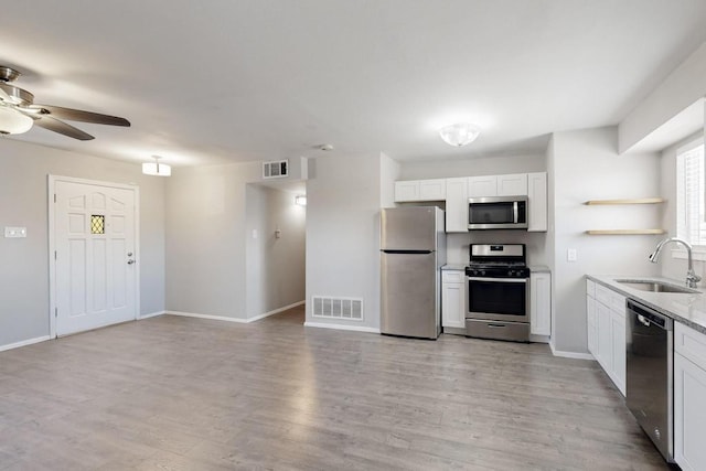
POLYGON ((706 335, 674 323, 674 460, 706 470, 706 335))

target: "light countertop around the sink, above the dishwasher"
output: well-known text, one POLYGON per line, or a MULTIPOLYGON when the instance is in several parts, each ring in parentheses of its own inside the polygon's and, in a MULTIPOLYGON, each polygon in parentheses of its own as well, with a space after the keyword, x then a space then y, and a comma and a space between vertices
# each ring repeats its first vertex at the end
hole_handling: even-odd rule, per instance
POLYGON ((670 285, 684 286, 683 281, 660 277, 617 276, 617 275, 587 275, 588 279, 603 285, 635 301, 662 312, 665 315, 682 322, 706 334, 706 293, 704 287, 697 287, 699 293, 678 292, 650 292, 629 288, 616 280, 639 279, 662 281, 670 285))

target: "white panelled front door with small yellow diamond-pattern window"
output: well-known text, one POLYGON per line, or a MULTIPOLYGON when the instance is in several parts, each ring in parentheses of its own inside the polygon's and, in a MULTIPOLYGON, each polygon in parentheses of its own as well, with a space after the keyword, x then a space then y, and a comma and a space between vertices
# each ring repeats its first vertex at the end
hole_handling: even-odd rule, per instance
POLYGON ((53 183, 56 335, 137 319, 137 189, 53 183))

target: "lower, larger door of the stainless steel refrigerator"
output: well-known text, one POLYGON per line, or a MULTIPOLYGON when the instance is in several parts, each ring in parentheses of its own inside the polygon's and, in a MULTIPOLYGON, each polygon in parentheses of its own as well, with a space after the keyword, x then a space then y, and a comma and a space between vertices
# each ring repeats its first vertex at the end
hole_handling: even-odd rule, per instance
POLYGON ((437 339, 440 330, 436 253, 381 253, 381 332, 437 339))

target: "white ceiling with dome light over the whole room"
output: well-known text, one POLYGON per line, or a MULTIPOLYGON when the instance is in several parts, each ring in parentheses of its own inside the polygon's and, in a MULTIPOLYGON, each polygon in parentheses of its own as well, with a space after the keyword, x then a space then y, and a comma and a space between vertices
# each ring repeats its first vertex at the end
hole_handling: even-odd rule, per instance
POLYGON ((11 1, 15 85, 132 127, 8 139, 175 165, 544 152, 552 131, 618 124, 705 24, 704 0, 11 1), (437 129, 461 119, 483 132, 452 148, 437 129))

